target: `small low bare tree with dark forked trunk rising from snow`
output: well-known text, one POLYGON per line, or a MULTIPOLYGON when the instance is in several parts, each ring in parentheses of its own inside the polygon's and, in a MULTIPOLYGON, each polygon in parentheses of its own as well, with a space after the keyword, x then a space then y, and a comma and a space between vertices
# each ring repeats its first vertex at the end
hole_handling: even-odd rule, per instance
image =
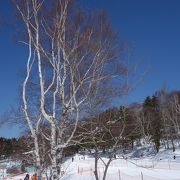
POLYGON ((79 146, 90 151, 94 157, 94 175, 99 180, 98 163, 104 165, 103 179, 106 179, 108 168, 123 141, 125 116, 123 111, 109 109, 81 122, 75 138, 79 138, 79 146), (91 152, 92 150, 92 152, 91 152), (107 158, 104 160, 103 156, 107 158))

